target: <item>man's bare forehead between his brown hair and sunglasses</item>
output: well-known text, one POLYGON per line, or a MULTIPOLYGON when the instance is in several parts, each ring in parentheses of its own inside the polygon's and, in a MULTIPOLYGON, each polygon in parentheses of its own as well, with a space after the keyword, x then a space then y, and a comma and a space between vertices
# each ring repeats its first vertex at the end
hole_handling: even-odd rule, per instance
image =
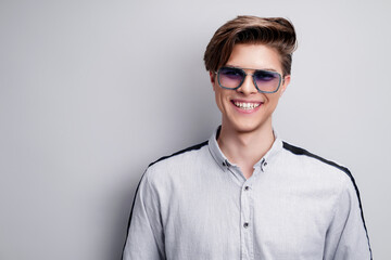
POLYGON ((236 44, 226 65, 282 73, 278 52, 274 48, 258 43, 236 44))

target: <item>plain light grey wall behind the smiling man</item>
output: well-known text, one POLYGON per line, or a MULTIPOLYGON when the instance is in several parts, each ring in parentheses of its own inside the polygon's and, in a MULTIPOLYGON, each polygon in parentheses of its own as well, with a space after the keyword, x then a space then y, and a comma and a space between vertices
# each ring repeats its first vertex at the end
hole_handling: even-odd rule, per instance
POLYGON ((388 1, 0 1, 0 259, 119 259, 147 165, 206 140, 203 67, 238 14, 299 49, 279 135, 346 165, 376 259, 391 256, 388 1))

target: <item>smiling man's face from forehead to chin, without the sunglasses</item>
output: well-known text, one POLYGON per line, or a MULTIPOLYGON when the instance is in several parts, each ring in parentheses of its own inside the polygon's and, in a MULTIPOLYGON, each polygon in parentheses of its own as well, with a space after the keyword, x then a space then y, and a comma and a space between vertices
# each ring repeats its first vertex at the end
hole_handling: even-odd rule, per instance
MULTIPOLYGON (((277 72, 282 76, 278 52, 264 44, 236 44, 225 66, 251 68, 244 69, 247 74, 254 73, 254 69, 264 69, 277 72)), ((260 93, 250 75, 236 90, 223 89, 218 84, 216 74, 210 73, 210 76, 217 106, 223 114, 224 128, 237 132, 252 132, 264 127, 272 128, 272 114, 290 81, 290 76, 281 80, 275 93, 260 93)))

